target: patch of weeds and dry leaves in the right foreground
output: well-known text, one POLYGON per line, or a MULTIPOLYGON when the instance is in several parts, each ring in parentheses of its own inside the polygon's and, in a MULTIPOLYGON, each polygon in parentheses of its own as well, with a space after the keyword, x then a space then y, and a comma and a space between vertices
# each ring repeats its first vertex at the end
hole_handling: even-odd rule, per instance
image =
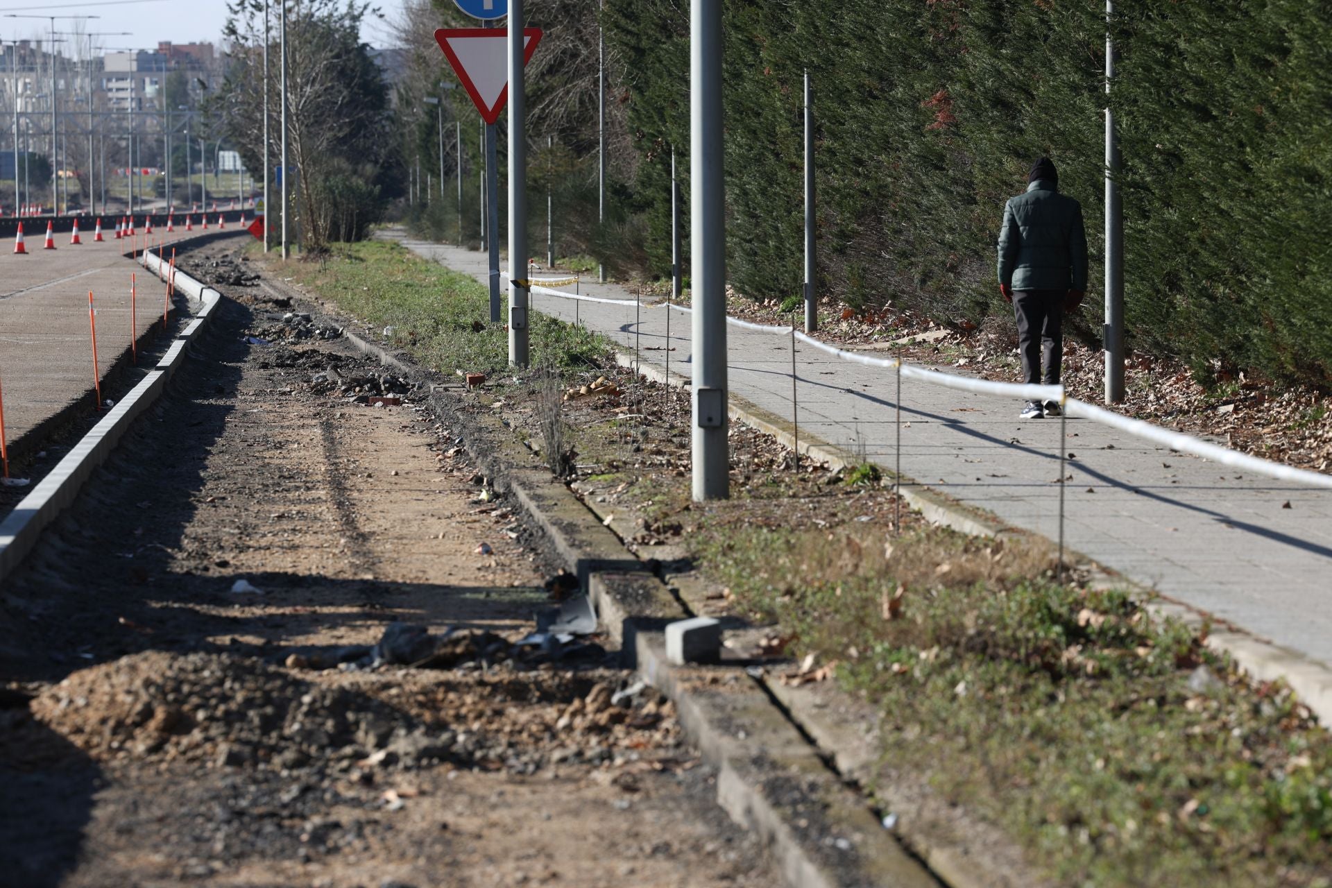
POLYGON ((883 756, 1062 884, 1332 884, 1332 742, 1183 624, 1052 582, 1050 553, 931 527, 699 537, 737 602, 836 662, 883 756))

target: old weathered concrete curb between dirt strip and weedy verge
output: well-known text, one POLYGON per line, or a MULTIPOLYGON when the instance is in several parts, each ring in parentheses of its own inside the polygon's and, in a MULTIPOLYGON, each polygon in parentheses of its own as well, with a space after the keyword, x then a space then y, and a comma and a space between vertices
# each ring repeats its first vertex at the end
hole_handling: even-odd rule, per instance
MULTIPOLYGON (((425 373, 362 337, 348 341, 382 365, 425 373)), ((666 660, 666 623, 689 616, 665 583, 565 485, 515 441, 486 435, 441 398, 469 455, 502 485, 578 572, 601 623, 630 664, 666 694, 686 735, 718 771, 717 800, 759 835, 793 888, 938 888, 938 879, 886 831, 819 751, 773 704, 762 686, 731 667, 677 667, 666 660)))

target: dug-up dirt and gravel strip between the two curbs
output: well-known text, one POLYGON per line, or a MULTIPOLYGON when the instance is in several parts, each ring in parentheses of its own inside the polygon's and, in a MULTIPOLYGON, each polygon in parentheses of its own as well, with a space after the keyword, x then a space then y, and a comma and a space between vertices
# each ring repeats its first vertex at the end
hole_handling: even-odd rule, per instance
POLYGON ((0 884, 777 884, 605 639, 515 644, 553 566, 428 398, 229 294, 0 595, 0 884))

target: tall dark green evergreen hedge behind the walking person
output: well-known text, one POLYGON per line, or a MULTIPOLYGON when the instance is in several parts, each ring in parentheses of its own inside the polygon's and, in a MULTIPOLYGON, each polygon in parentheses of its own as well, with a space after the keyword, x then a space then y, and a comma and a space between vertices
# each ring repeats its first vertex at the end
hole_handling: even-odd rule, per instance
MULTIPOLYGON (((1201 373, 1332 381, 1332 12, 1309 0, 1122 0, 1132 345, 1201 373)), ((642 153, 631 200, 669 266, 669 146, 687 186, 689 4, 607 0, 642 153)), ((726 0, 730 278, 801 290, 802 75, 818 116, 819 290, 979 321, 1004 200, 1050 154, 1088 220, 1098 333, 1106 23, 1099 0, 726 0), (832 7, 830 9, 830 7, 832 7)))

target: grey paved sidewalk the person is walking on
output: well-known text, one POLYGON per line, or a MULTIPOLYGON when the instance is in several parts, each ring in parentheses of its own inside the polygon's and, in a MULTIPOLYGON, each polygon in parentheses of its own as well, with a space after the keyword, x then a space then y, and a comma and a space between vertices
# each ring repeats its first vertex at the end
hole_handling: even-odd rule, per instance
MULTIPOLYGON (((392 237, 402 237, 390 233, 392 237)), ((484 254, 404 240, 413 252, 486 280, 484 254)), ((538 274, 539 277, 539 274, 538 274)), ((573 288, 565 288, 571 290, 573 288)), ((618 285, 581 292, 633 300, 618 285)), ((567 321, 574 304, 537 296, 534 309, 567 321)), ((581 321, 634 345, 633 306, 581 304, 581 321)), ((666 345, 665 309, 645 308, 641 345, 666 345)), ((671 318, 671 370, 689 375, 690 318, 671 318)), ((729 328, 731 390, 791 415, 791 345, 729 328)), ((641 353, 661 367, 659 350, 641 353)), ((538 359, 539 355, 533 355, 538 359)), ((891 370, 801 346, 801 427, 894 461, 891 370)), ((918 482, 1054 539, 1058 533, 1059 422, 1020 421, 1019 403, 922 382, 902 387, 902 470, 918 482), (906 425, 908 423, 908 425, 906 425)), ((1332 664, 1332 491, 1248 477, 1171 453, 1112 429, 1068 419, 1068 545, 1162 594, 1248 632, 1332 664), (1289 509, 1284 507, 1289 503, 1289 509)))

